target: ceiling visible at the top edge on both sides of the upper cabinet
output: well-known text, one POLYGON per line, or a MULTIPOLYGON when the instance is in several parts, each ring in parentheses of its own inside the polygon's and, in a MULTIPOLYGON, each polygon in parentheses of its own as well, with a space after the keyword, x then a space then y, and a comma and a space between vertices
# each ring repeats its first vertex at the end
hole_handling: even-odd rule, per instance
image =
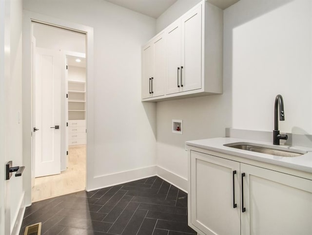
MULTIPOLYGON (((107 0, 116 5, 128 8, 130 10, 139 12, 141 14, 158 18, 164 13, 172 4, 177 0, 107 0)), ((194 5, 200 0, 188 0, 194 1, 194 5)), ((207 0, 208 2, 216 5, 221 9, 228 8, 239 0, 207 0)))

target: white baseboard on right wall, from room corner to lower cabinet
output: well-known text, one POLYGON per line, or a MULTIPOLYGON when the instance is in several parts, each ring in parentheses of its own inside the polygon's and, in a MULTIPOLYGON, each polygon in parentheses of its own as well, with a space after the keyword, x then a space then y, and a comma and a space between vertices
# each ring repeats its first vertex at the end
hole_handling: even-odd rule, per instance
POLYGON ((161 179, 171 183, 172 185, 176 186, 177 188, 187 193, 188 191, 187 179, 179 175, 176 175, 172 171, 169 171, 160 166, 156 166, 156 167, 157 167, 157 176, 159 176, 161 179))

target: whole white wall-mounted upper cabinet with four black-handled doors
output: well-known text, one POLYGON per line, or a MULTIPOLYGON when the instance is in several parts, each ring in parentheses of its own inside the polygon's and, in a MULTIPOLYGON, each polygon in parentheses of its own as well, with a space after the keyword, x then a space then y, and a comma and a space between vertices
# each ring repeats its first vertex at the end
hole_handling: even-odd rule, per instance
MULTIPOLYGON (((157 51, 154 46, 154 54, 157 51)), ((143 46, 142 54, 142 101, 222 93, 223 11, 201 1, 143 46), (149 59, 144 54, 159 36, 165 37, 164 47, 160 47, 160 50, 165 48, 165 64, 156 68, 155 60, 153 75, 164 74, 165 92, 156 95, 153 90, 153 95, 153 92, 149 94, 149 87, 153 83, 156 89, 156 80, 145 72, 149 59)))

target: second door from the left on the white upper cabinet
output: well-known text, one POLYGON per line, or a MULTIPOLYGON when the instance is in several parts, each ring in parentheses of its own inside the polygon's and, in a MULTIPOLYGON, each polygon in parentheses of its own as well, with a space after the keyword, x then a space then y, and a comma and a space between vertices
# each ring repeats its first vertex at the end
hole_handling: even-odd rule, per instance
POLYGON ((161 34, 153 41, 154 46, 154 75, 152 76, 152 96, 165 94, 166 80, 166 42, 165 34, 161 34))

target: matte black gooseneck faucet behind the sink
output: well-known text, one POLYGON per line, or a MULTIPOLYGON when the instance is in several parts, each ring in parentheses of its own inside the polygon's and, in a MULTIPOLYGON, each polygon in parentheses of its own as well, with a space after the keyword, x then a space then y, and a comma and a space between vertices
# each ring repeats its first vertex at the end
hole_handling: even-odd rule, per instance
POLYGON ((276 95, 274 104, 274 130, 273 130, 273 145, 279 145, 279 140, 287 140, 288 136, 284 134, 279 134, 278 130, 278 116, 280 121, 285 120, 284 114, 284 101, 281 95, 276 95), (279 115, 278 115, 279 107, 279 115))

